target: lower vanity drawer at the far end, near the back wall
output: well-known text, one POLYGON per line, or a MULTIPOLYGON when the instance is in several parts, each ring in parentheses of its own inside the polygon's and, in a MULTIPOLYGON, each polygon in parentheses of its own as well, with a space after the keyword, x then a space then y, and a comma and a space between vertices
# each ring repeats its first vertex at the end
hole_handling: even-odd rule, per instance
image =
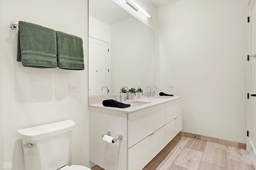
POLYGON ((165 145, 167 145, 182 130, 182 115, 165 125, 165 145))

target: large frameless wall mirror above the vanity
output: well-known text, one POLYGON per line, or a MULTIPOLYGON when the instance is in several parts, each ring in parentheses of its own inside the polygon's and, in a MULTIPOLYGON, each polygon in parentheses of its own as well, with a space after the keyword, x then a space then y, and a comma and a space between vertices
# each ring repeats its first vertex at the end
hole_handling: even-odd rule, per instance
POLYGON ((88 51, 89 96, 155 85, 154 31, 111 0, 89 0, 88 51))

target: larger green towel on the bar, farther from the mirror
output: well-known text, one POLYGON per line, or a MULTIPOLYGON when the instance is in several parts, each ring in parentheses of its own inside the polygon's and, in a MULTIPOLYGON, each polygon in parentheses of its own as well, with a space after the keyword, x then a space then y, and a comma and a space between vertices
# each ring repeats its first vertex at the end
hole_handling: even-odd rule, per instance
POLYGON ((23 66, 36 68, 57 67, 55 30, 20 21, 17 61, 23 66))

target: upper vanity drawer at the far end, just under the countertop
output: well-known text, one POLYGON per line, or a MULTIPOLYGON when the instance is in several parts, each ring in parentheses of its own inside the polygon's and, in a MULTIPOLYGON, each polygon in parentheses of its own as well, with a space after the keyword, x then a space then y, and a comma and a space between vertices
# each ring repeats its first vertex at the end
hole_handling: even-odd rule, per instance
POLYGON ((166 103, 166 124, 182 114, 182 99, 166 103))

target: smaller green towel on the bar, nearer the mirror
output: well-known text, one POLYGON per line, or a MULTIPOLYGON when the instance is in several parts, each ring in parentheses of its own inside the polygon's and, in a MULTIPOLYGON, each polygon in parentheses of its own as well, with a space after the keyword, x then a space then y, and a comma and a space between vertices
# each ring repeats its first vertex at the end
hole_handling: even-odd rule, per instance
POLYGON ((57 61, 60 69, 84 70, 83 40, 80 37, 56 31, 57 61))

